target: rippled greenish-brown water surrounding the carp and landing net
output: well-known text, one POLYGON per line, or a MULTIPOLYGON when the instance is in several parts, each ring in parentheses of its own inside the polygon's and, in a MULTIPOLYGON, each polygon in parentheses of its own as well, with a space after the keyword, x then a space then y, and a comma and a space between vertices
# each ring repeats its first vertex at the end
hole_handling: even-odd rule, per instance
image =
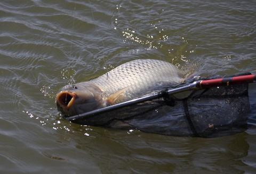
POLYGON ((256 72, 255 1, 0 1, 1 173, 254 173, 256 90, 246 132, 172 137, 80 126, 55 94, 129 60, 187 75, 256 72))

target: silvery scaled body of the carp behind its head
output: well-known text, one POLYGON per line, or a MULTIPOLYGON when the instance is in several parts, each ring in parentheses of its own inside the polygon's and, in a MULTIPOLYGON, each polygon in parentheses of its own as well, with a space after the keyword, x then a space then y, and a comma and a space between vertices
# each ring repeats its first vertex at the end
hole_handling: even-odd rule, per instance
POLYGON ((90 83, 99 86, 103 92, 112 94, 124 88, 128 88, 127 91, 141 91, 162 81, 178 83, 182 81, 182 77, 182 72, 171 63, 137 59, 112 69, 90 83))

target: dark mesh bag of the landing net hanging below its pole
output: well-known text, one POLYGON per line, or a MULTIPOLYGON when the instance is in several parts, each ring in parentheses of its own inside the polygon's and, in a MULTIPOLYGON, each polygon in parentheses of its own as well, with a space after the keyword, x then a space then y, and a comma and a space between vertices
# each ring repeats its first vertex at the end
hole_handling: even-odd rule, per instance
MULTIPOLYGON (((201 78, 197 82, 215 78, 201 78)), ((188 80, 180 86, 182 88, 192 82, 188 80)), ((227 135, 246 128, 247 112, 250 110, 248 86, 248 83, 229 85, 227 82, 226 86, 164 94, 153 100, 67 119, 82 125, 135 128, 163 135, 227 135)))

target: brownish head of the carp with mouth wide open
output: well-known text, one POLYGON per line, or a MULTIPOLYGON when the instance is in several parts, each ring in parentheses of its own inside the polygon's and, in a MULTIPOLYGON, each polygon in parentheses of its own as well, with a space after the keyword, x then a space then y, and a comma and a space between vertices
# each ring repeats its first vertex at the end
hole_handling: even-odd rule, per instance
POLYGON ((64 117, 98 109, 102 106, 101 93, 101 90, 93 84, 66 85, 57 94, 57 108, 64 117))

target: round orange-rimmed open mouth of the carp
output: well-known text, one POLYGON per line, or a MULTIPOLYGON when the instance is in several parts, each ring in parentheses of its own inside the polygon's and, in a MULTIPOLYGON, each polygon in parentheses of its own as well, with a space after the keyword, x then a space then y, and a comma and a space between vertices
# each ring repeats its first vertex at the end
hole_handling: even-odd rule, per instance
POLYGON ((61 91, 56 97, 57 103, 65 109, 69 109, 74 105, 76 94, 69 91, 61 91))

